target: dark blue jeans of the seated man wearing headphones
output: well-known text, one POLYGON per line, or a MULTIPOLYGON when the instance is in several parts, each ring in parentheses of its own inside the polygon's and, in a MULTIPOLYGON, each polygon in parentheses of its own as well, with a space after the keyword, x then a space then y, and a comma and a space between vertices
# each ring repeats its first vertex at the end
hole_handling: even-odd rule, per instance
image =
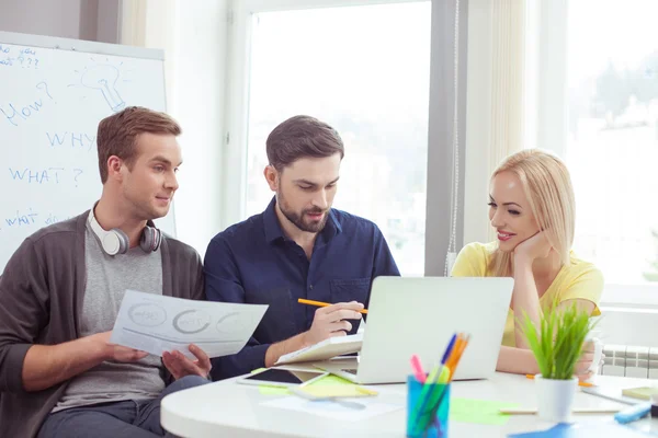
POLYGON ((162 397, 205 383, 209 383, 209 380, 198 376, 186 376, 167 387, 157 399, 126 400, 59 411, 46 417, 38 438, 162 437, 166 434, 160 425, 162 397))

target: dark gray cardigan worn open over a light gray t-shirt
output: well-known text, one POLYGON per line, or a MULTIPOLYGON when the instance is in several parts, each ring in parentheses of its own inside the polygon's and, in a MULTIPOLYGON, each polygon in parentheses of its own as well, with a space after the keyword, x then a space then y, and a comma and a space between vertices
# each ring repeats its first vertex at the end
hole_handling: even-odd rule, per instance
MULTIPOLYGON (((41 229, 21 244, 0 276, 0 437, 34 437, 68 382, 23 389, 23 360, 34 344, 79 337, 87 284, 84 231, 89 211, 41 229)), ((203 267, 194 249, 167 237, 162 293, 204 299, 203 267)), ((166 376, 166 381, 171 377, 166 376)))

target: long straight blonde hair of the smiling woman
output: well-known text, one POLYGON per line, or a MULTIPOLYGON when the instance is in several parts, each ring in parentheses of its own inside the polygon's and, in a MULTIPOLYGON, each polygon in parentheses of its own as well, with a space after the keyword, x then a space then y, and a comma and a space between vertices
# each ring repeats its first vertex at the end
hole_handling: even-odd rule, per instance
MULTIPOLYGON (((491 182, 502 172, 519 177, 540 230, 544 230, 561 264, 568 264, 576 227, 576 200, 565 163, 538 149, 526 149, 508 157, 491 175, 491 182)), ((494 277, 512 276, 512 254, 496 249, 489 272, 494 277)))

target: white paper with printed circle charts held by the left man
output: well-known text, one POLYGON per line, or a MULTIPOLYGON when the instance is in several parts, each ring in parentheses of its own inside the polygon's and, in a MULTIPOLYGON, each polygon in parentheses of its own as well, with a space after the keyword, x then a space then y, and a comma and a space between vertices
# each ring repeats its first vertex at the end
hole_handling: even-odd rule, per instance
POLYGON ((126 290, 110 342, 162 356, 179 350, 191 359, 190 344, 209 357, 245 347, 265 314, 264 304, 185 300, 126 290))

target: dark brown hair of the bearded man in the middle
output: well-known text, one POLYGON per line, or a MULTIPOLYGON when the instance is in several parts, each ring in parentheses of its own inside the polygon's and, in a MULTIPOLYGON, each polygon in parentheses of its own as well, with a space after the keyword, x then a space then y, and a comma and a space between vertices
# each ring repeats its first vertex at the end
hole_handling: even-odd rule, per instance
POLYGON ((344 157, 342 139, 331 126, 310 116, 294 116, 274 128, 265 141, 270 164, 281 172, 300 158, 344 157))

